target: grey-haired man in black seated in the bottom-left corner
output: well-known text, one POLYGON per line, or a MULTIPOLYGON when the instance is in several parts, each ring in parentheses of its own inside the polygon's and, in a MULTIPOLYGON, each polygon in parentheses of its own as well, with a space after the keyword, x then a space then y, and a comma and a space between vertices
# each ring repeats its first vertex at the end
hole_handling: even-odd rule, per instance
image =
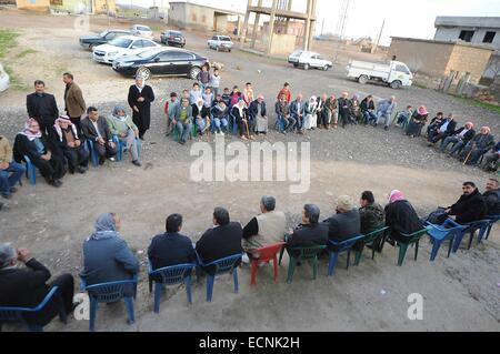
MULTIPOLYGON (((50 271, 33 259, 28 250, 14 250, 9 243, 0 244, 0 306, 36 307, 53 286, 58 286, 64 311, 71 313, 73 276, 63 274, 48 284, 50 276, 50 271), (26 267, 18 267, 18 262, 26 267)), ((26 314, 24 320, 44 326, 58 313, 58 299, 52 297, 42 311, 26 314)))

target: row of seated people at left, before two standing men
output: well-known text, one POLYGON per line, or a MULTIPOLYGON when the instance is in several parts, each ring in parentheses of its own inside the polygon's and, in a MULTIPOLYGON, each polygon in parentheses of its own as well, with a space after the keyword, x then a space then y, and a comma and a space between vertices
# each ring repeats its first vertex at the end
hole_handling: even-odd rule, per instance
MULTIPOLYGON (((28 158, 47 183, 58 188, 67 172, 86 173, 92 150, 98 155, 99 164, 103 164, 107 159, 116 160, 119 145, 126 146, 126 151, 130 152, 136 166, 141 166, 139 131, 124 107, 116 107, 109 117, 102 117, 97 108, 89 107, 87 117, 80 124, 81 133, 68 115, 60 115, 46 133, 41 131, 40 123, 30 118, 26 121, 24 129, 16 135, 13 149, 2 136, 0 168, 6 168, 0 170, 0 183, 4 184, 2 175, 10 172, 9 183, 6 185, 9 184, 10 191, 16 191, 14 184, 24 172, 21 162, 27 162, 28 158)), ((9 194, 7 186, 3 194, 9 194)))

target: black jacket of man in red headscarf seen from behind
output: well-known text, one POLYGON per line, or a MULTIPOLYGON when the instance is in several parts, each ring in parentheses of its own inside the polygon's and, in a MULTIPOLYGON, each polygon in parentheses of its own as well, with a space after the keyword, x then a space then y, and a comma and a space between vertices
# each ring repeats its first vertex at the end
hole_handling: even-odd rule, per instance
POLYGON ((423 229, 413 206, 404 200, 386 205, 386 226, 393 235, 412 234, 423 229))

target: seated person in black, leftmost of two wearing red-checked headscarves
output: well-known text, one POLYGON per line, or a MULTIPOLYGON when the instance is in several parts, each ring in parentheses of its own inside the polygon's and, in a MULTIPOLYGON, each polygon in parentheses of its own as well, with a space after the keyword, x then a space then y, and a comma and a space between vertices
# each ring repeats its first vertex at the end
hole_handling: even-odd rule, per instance
POLYGON ((61 151, 42 136, 39 123, 30 118, 24 130, 16 136, 13 154, 17 162, 24 160, 27 155, 38 168, 47 183, 60 186, 60 181, 66 174, 64 156, 61 151))

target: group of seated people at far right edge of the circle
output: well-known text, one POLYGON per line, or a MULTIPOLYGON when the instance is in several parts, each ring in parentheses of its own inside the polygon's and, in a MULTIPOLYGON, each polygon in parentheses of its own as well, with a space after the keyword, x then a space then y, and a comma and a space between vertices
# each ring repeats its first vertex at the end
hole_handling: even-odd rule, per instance
MULTIPOLYGON (((414 138, 421 135, 428 118, 429 112, 424 105, 416 111, 409 105, 406 111, 398 113, 397 125, 406 129, 407 135, 414 138)), ((428 145, 437 146, 440 153, 448 153, 463 164, 480 163, 486 172, 497 171, 500 141, 494 142, 489 127, 482 127, 477 132, 472 122, 466 122, 460 127, 453 113, 444 117, 442 112, 438 112, 427 125, 426 131, 428 145)))

